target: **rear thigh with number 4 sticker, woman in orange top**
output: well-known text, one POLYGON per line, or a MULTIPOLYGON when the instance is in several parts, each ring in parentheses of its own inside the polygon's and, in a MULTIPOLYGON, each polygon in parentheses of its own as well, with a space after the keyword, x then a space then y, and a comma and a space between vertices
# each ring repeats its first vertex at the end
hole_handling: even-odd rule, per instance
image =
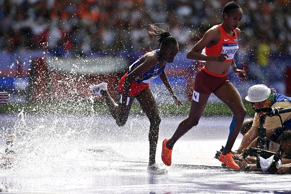
POLYGON ((189 119, 200 119, 210 94, 201 94, 193 91, 189 119))

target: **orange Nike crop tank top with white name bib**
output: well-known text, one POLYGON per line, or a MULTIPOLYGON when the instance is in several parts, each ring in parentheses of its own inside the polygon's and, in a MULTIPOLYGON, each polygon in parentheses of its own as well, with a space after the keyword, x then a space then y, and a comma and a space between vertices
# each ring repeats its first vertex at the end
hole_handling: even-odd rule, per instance
POLYGON ((225 61, 232 61, 233 56, 235 55, 235 52, 238 49, 237 43, 238 39, 236 30, 234 30, 235 36, 231 37, 224 31, 221 24, 218 24, 217 26, 219 27, 221 38, 216 45, 209 48, 205 48, 205 55, 217 56, 220 54, 227 54, 228 58, 226 58, 225 61))

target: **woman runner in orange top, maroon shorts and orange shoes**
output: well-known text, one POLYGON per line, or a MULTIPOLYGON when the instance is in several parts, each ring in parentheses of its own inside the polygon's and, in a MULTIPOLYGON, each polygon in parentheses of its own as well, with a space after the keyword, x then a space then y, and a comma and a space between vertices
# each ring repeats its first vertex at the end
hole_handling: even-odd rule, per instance
POLYGON ((239 169, 230 152, 242 127, 246 109, 239 92, 228 80, 228 70, 232 66, 235 74, 240 78, 245 78, 245 72, 237 69, 233 60, 233 56, 238 49, 240 30, 237 27, 241 19, 242 9, 240 6, 235 2, 227 3, 223 7, 222 24, 210 28, 203 38, 188 52, 188 59, 206 62, 205 66, 197 72, 195 78, 189 117, 179 124, 171 139, 166 139, 163 142, 162 160, 166 165, 171 165, 171 153, 174 144, 187 131, 198 124, 207 100, 210 94, 213 93, 234 114, 230 124, 228 140, 219 161, 232 169, 239 169), (200 54, 203 48, 205 48, 206 55, 200 54))

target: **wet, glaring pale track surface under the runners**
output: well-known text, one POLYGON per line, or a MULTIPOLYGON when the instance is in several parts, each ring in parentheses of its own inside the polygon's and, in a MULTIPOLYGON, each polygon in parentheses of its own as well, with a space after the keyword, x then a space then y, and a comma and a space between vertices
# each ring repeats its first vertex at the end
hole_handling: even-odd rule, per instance
MULTIPOLYGON (((231 116, 203 117, 173 149, 173 165, 160 159, 161 143, 184 117, 163 117, 156 162, 166 175, 146 172, 148 127, 144 115, 118 128, 106 115, 1 116, 1 149, 15 134, 15 161, 0 169, 8 193, 289 193, 290 175, 234 172, 220 167, 216 150, 231 116), (185 165, 182 165, 185 164, 185 165), (202 166, 201 166, 202 165, 202 166)), ((237 148, 242 136, 235 142, 237 148)))

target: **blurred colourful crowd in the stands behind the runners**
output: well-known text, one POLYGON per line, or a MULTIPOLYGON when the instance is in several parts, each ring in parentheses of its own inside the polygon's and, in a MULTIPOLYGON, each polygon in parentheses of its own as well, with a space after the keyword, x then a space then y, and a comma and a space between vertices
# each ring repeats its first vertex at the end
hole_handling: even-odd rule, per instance
MULTIPOLYGON (((221 12, 227 2, 0 0, 0 50, 9 53, 44 50, 58 57, 131 51, 141 55, 155 46, 148 33, 148 24, 165 23, 177 38, 183 53, 207 29, 222 22, 221 12)), ((239 25, 242 33, 237 66, 248 72, 249 80, 273 82, 288 79, 291 71, 288 61, 291 53, 291 2, 236 2, 244 12, 239 25)))

